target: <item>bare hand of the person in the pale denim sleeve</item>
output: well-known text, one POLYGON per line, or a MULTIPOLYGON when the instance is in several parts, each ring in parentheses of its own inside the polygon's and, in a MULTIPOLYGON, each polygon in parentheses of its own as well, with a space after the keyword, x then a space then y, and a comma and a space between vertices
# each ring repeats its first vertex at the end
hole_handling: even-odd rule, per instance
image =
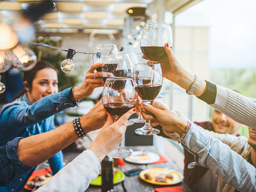
POLYGON ((154 100, 152 105, 143 102, 141 104, 141 114, 145 120, 151 120, 152 125, 159 124, 167 132, 177 132, 181 135, 187 126, 187 121, 184 118, 177 115, 169 106, 159 100, 154 100), (147 111, 154 116, 148 115, 147 111))

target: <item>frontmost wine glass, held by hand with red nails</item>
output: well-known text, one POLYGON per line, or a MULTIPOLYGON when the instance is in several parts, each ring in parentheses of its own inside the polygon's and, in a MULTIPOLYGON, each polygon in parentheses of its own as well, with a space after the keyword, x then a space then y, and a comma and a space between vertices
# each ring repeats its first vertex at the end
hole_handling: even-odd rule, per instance
MULTIPOLYGON (((134 108, 136 104, 136 91, 133 79, 127 77, 106 79, 102 92, 102 103, 106 111, 116 122, 120 116, 124 115, 129 109, 134 108)), ((119 144, 108 156, 125 158, 131 156, 131 154, 129 150, 121 149, 119 144)))

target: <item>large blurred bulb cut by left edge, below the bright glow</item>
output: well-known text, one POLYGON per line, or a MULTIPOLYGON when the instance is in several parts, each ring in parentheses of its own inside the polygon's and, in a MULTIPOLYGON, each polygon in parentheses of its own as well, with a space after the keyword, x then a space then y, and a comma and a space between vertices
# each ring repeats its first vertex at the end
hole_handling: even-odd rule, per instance
POLYGON ((13 65, 13 52, 10 50, 0 51, 0 73, 6 72, 13 65))

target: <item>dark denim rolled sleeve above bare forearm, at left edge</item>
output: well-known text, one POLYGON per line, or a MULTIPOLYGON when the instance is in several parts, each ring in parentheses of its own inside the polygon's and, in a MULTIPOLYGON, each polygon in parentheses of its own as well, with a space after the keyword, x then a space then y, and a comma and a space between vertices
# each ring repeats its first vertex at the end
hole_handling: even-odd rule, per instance
POLYGON ((22 164, 17 156, 16 148, 19 140, 15 138, 0 147, 0 186, 6 186, 10 181, 31 170, 22 164))

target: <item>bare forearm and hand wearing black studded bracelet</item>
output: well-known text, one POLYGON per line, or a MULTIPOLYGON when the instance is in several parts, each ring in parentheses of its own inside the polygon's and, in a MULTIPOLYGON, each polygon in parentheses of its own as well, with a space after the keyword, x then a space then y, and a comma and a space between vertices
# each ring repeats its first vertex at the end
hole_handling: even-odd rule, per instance
MULTIPOLYGON (((106 122, 106 111, 102 101, 100 100, 86 115, 82 116, 80 122, 85 134, 100 129, 106 122)), ((23 164, 32 167, 51 158, 77 139, 79 137, 73 123, 68 122, 51 131, 20 140, 17 154, 23 164)))

